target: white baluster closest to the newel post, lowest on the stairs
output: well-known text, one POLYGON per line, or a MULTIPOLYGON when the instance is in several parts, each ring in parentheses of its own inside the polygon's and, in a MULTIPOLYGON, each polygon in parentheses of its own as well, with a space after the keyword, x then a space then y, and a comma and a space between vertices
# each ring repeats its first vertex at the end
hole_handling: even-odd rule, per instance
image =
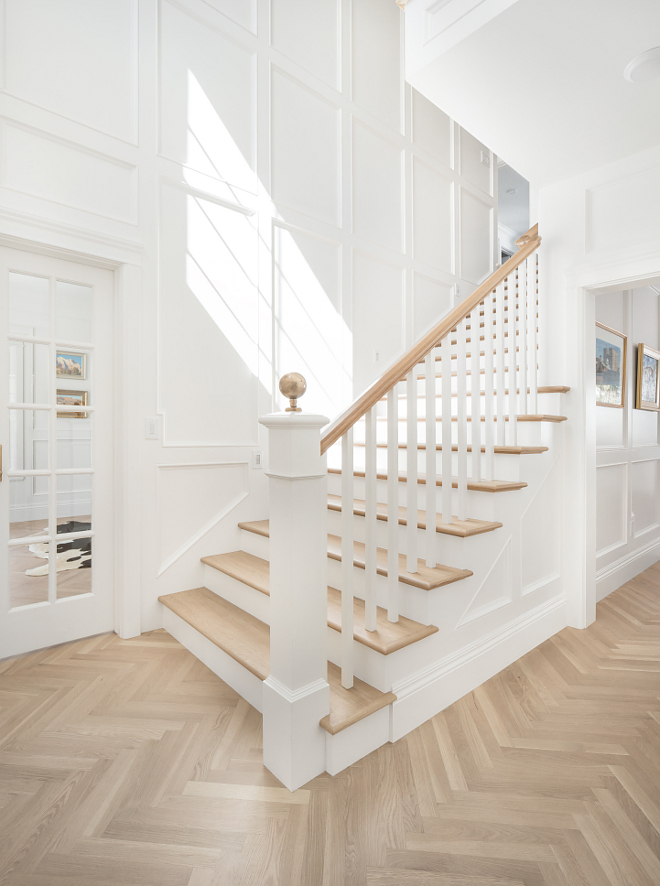
POLYGON ((341 438, 341 685, 353 688, 353 428, 341 438))

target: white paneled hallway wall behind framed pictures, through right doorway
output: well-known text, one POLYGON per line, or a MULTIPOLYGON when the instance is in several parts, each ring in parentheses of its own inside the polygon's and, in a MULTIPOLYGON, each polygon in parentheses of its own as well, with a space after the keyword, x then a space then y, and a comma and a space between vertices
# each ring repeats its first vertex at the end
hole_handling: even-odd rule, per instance
POLYGON ((602 599, 660 557, 658 413, 635 408, 637 345, 658 348, 658 293, 596 296, 596 320, 628 336, 623 409, 596 410, 596 592, 602 599))

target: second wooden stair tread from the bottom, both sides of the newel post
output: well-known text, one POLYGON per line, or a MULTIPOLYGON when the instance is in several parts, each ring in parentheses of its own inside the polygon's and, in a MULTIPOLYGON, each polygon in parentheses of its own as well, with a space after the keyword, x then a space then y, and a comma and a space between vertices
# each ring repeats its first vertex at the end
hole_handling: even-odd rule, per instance
MULTIPOLYGON (((259 520, 256 523, 239 524, 241 529, 247 532, 255 532, 257 535, 268 535, 268 520, 259 520), (266 533, 262 532, 262 524, 266 524, 266 533)), ((270 596, 270 563, 254 554, 246 554, 244 551, 233 551, 230 554, 217 554, 214 557, 204 557, 202 563, 231 576, 251 588, 261 591, 270 596)), ((423 625, 410 618, 399 617, 396 623, 387 620, 387 611, 378 608, 378 630, 367 631, 364 627, 364 600, 353 598, 353 639, 374 649, 381 655, 389 655, 404 646, 410 646, 424 637, 435 634, 438 630, 435 625, 423 625)), ((335 631, 341 631, 341 591, 328 587, 328 625, 335 631)))

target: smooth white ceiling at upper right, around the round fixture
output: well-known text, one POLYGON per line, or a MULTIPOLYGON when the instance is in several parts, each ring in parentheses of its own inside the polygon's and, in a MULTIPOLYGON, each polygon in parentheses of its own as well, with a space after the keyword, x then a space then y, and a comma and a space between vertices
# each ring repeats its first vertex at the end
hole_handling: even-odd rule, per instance
POLYGON ((660 79, 623 78, 658 45, 660 0, 518 0, 409 79, 542 185, 660 144, 660 79))

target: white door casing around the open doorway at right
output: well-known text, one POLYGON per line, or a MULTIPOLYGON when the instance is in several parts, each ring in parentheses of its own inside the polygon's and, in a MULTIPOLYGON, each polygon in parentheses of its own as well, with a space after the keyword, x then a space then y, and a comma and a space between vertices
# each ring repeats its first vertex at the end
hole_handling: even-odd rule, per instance
MULTIPOLYGON (((596 297, 606 291, 636 289, 660 276, 660 255, 643 260, 626 259, 575 268, 567 279, 567 301, 574 313, 567 323, 577 324, 573 370, 578 379, 578 399, 569 410, 572 445, 567 462, 574 460, 576 473, 568 475, 565 485, 565 513, 575 516, 566 521, 564 544, 567 549, 566 572, 568 620, 572 627, 586 628, 596 618, 596 359, 594 328, 596 297)), ((632 344, 632 343, 631 343, 632 344)))

